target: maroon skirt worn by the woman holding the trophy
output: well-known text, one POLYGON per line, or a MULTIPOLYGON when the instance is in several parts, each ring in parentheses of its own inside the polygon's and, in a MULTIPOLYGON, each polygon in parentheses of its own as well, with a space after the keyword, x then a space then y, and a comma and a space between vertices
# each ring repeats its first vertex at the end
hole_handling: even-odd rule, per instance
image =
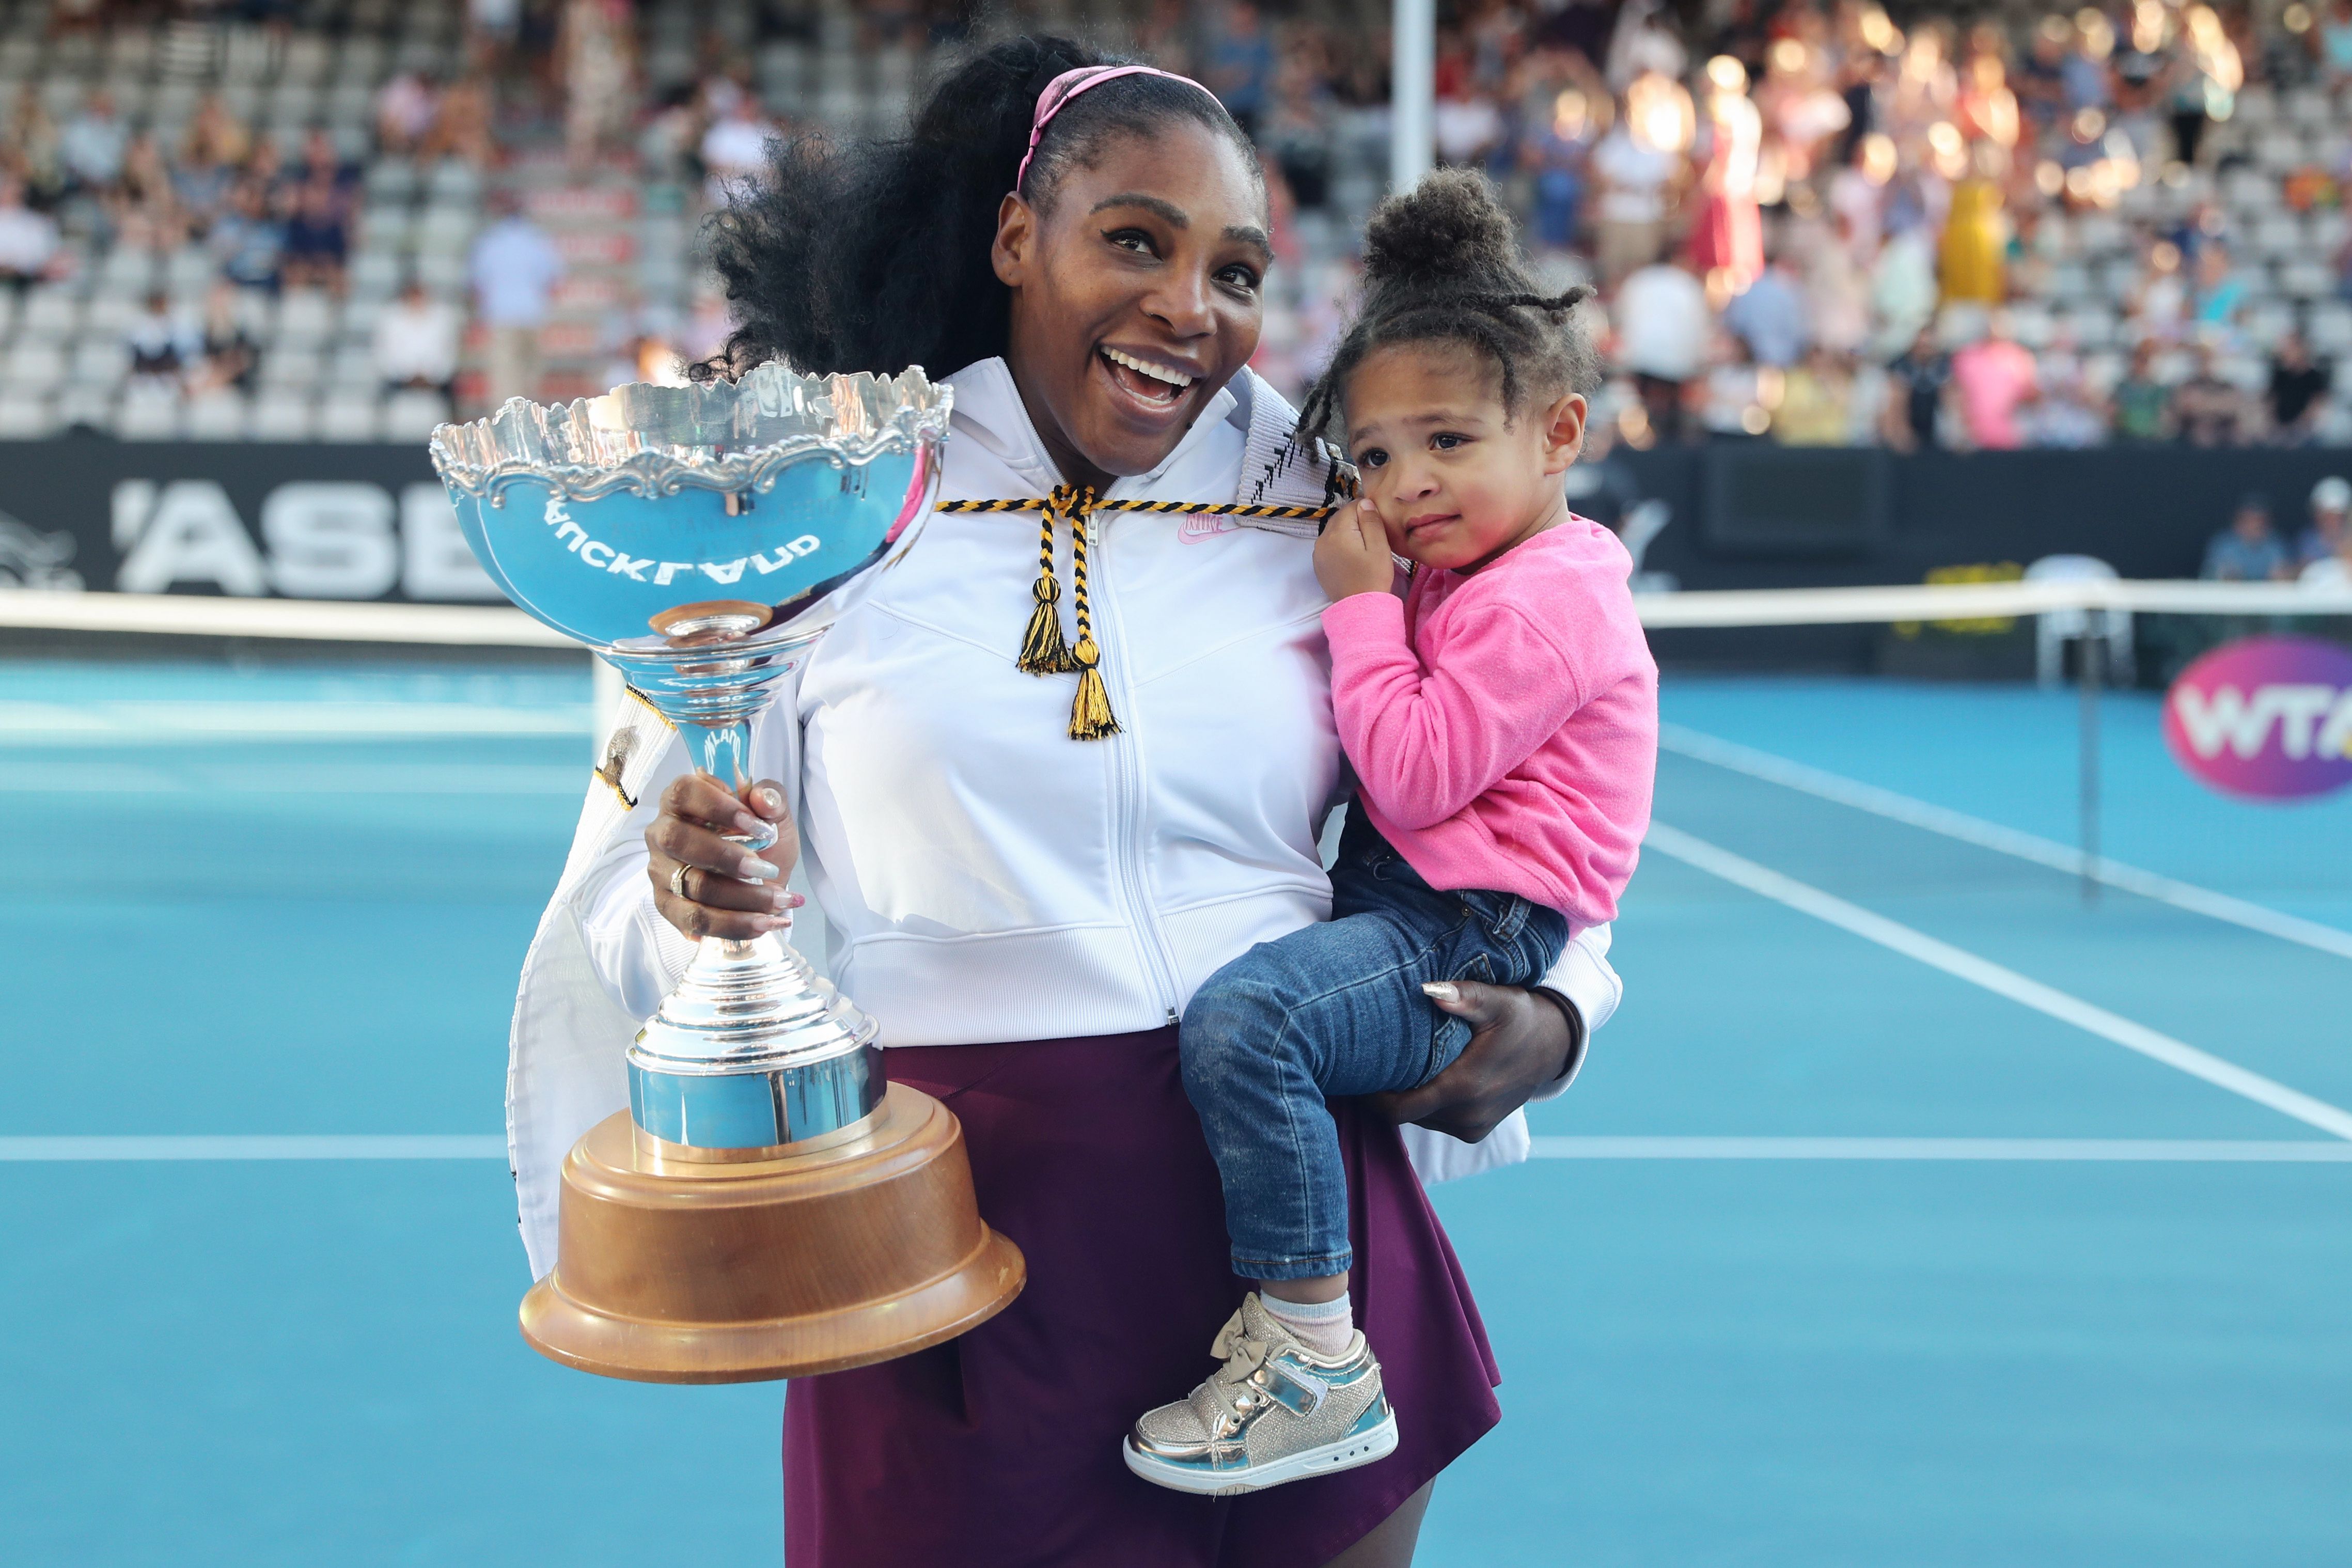
POLYGON ((1247 1497, 1136 1479, 1120 1439, 1209 1375, 1209 1340, 1249 1288, 1176 1030, 884 1063, 962 1119, 981 1213, 1028 1255, 1028 1288, 960 1340, 793 1382, 790 1568, 1312 1568, 1501 1420, 1486 1328, 1397 1128, 1341 1103, 1350 1288, 1397 1450, 1247 1497))

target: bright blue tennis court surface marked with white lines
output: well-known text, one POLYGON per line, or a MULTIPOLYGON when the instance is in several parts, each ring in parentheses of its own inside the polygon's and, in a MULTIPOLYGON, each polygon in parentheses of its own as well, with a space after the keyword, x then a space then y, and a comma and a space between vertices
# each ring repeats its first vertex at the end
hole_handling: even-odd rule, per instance
MULTIPOLYGON (((1421 1563, 2352 1563, 2352 795, 2114 693, 2086 903, 2072 693, 1665 715, 1625 1009, 1437 1194, 1505 1420, 1421 1563)), ((0 1561, 779 1556, 781 1387, 515 1333, 586 731, 569 670, 0 665, 0 1561)))

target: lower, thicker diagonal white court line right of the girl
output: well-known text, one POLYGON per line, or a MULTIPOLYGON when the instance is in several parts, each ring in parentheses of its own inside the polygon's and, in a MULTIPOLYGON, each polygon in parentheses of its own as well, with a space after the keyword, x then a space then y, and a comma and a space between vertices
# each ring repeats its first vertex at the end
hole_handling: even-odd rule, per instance
POLYGON ((1717 849, 1705 839, 1693 839, 1691 835, 1668 827, 1653 820, 1649 825, 1646 844, 1684 865, 1696 865, 1703 872, 1722 877, 1750 893, 1762 893, 1773 903, 1783 903, 1790 910, 1823 919, 1842 931, 1877 943, 1900 952, 1903 957, 1919 959, 1929 969, 1940 969, 1947 976, 1957 976, 1969 985, 1980 985, 1997 997, 2009 997, 2023 1006, 2046 1013, 2060 1023, 2070 1023, 2077 1030, 2089 1030, 2100 1039, 2110 1039, 2126 1051, 2138 1051, 2150 1060, 2159 1060, 2166 1067, 2178 1067, 2194 1079, 2204 1079, 2216 1088, 2227 1088, 2234 1095, 2244 1095, 2256 1105, 2267 1105, 2270 1110, 2293 1117, 2317 1126, 2336 1138, 2352 1138, 2352 1112, 2328 1105, 2326 1100, 2314 1100, 2300 1088, 2288 1088, 2277 1079, 2265 1079, 2260 1072, 2249 1072, 2237 1063, 2225 1063, 2218 1056, 2209 1056, 2197 1046, 2183 1044, 2171 1034, 2157 1034, 2143 1023, 2133 1023, 2103 1006, 2093 1006, 2082 997, 2070 997, 2063 990, 2042 985, 2042 980, 2030 980, 2013 969, 2004 969, 1992 959, 1980 959, 1964 947, 1940 943, 1924 931, 1915 931, 1900 922, 1875 914, 1856 903, 1846 903, 1835 893, 1823 893, 1820 889, 1785 877, 1769 865, 1757 865, 1745 860, 1729 849, 1717 849))

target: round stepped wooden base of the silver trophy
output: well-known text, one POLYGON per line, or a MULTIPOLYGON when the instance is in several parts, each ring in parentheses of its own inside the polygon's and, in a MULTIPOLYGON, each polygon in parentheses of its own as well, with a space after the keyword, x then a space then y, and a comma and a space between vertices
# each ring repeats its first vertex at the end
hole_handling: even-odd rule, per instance
POLYGON ((981 1222, 962 1124, 917 1088, 790 1154, 715 1154, 628 1112, 572 1145, 560 1262, 522 1298, 534 1349, 637 1382, 807 1378, 953 1340, 1028 1281, 981 1222))

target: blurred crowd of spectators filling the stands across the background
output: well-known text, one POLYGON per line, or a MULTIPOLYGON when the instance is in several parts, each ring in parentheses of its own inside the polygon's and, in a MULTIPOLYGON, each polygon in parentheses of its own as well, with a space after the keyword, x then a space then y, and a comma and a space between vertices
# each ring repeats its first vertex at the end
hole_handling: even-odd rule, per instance
MULTIPOLYGON (((938 49, 1049 24, 1197 75, 1251 129, 1284 261, 1258 367, 1296 390, 1336 341, 1388 165, 1388 7, 1364 0, 1105 0, 1073 16, 938 0, 421 0, 414 14, 85 0, 47 7, 42 59, 66 59, 73 28, 148 26, 158 9, 160 49, 191 16, 230 45, 278 38, 268 125, 261 89, 214 85, 165 113, 158 87, 122 113, 92 66, 92 89, 52 113, 64 99, 38 80, 12 96, 0 80, 0 284, 92 296, 73 317, 92 327, 103 280, 89 289, 87 273, 115 252, 169 261, 115 268, 136 282, 103 320, 134 388, 252 393, 280 343, 263 324, 292 320, 278 301, 296 296, 343 339, 320 374, 348 376, 365 350, 379 393, 480 407, 673 376, 727 331, 724 303, 684 270, 687 237, 774 136, 889 132, 938 49), (320 66, 301 89, 313 12, 341 75, 320 66), (393 47, 362 71, 369 26, 393 47), (595 244, 557 235, 560 249, 541 219, 586 226, 588 209, 543 183, 548 200, 515 200, 532 195, 524 158, 626 190, 623 221, 675 214, 675 263, 637 261, 640 237, 612 280, 572 266, 569 308, 600 317, 586 339, 555 317, 567 256, 595 244), (407 249, 362 254, 388 244, 383 223, 407 249), (557 367, 557 339, 593 364, 557 367)), ((2004 16, 1898 21, 1877 0, 1439 7, 1439 160, 1496 179, 1550 277, 1602 289, 1595 442, 2352 440, 2352 0, 2004 16)), ((101 52, 113 71, 118 45, 92 38, 85 54, 101 52)), ((141 71, 172 80, 169 61, 141 71)))

